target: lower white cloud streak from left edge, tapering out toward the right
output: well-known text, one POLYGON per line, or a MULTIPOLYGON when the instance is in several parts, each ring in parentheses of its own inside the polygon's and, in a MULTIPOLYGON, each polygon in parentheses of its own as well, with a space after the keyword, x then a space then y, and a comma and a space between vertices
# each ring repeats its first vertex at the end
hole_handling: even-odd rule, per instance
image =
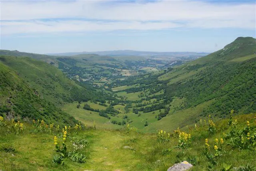
POLYGON ((112 30, 160 30, 180 27, 171 22, 93 22, 81 20, 68 21, 33 21, 33 22, 2 22, 3 34, 36 33, 36 32, 86 32, 112 30))

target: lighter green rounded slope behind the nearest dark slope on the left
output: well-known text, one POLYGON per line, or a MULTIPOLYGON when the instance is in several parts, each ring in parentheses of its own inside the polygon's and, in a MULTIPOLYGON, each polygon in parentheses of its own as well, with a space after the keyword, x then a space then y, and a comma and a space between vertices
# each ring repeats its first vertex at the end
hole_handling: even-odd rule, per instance
POLYGON ((87 101, 95 89, 86 89, 67 78, 58 68, 31 58, 1 56, 1 62, 15 70, 20 78, 52 103, 87 101))

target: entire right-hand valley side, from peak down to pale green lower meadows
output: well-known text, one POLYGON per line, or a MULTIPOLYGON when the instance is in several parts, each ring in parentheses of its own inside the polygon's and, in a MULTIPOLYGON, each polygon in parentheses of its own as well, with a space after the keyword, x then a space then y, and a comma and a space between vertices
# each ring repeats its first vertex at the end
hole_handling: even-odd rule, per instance
POLYGON ((231 109, 236 115, 255 112, 255 67, 255 39, 237 38, 222 50, 182 66, 109 86, 117 97, 133 101, 131 105, 126 103, 129 112, 124 111, 128 118, 133 118, 131 125, 146 132, 162 126, 173 130, 193 125, 209 113, 218 119, 225 118, 231 109), (161 91, 164 93, 156 95, 161 91), (143 107, 147 106, 154 107, 145 112, 143 107), (146 121, 148 126, 144 127, 146 121))

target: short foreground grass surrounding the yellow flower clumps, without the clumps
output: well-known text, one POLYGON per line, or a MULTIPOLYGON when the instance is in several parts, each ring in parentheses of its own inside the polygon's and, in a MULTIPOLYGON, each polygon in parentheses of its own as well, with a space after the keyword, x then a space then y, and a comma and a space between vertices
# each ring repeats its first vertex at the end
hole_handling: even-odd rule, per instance
MULTIPOLYGON (((238 129, 246 127, 246 121, 250 121, 251 135, 255 134, 255 114, 240 115, 235 117, 238 129)), ((234 121, 234 120, 233 120, 234 121)), ((194 165, 191 170, 220 170, 224 164, 232 167, 240 167, 255 164, 255 149, 239 149, 230 146, 229 139, 224 139, 221 155, 214 158, 215 164, 204 155, 205 139, 210 144, 210 152, 214 153, 214 141, 223 137, 222 133, 228 133, 228 119, 216 122, 216 133, 208 131, 208 125, 198 126, 197 129, 189 128, 186 132, 191 134, 191 146, 177 148, 177 137, 170 137, 170 141, 161 143, 157 140, 157 133, 136 133, 125 131, 108 131, 92 128, 79 131, 68 131, 67 148, 72 151, 72 141, 83 139, 88 143, 83 148, 86 153, 86 163, 73 162, 69 158, 64 159, 64 165, 52 162, 56 152, 53 137, 62 137, 61 133, 36 133, 36 128, 31 124, 25 124, 24 131, 19 134, 6 134, 1 127, 0 132, 0 169, 2 170, 145 170, 162 171, 183 160, 194 165), (124 148, 126 147, 126 148, 124 148)), ((220 147, 220 144, 218 144, 220 147)))

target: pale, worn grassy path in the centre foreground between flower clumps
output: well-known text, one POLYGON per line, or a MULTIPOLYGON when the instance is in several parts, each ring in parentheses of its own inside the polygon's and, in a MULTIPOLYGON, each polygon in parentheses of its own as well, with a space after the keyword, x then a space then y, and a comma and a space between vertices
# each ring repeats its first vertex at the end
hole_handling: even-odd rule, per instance
POLYGON ((101 131, 94 134, 91 145, 88 170, 130 170, 140 160, 136 159, 134 151, 124 149, 129 138, 116 131, 101 131))

